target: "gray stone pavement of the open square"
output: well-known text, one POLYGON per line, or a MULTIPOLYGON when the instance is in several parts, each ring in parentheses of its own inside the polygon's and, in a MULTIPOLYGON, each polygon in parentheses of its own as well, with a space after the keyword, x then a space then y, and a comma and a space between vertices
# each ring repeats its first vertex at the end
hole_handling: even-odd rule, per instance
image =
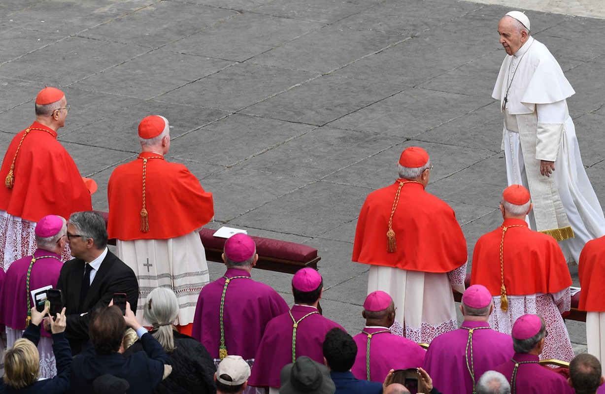
MULTIPOLYGON (((605 202, 605 22, 531 4, 541 10, 528 11, 534 36, 577 91, 569 108, 605 202)), ((368 271, 350 261, 356 218, 370 191, 393 182, 402 149, 430 153, 428 191, 455 209, 469 255, 500 225, 502 120, 490 96, 508 10, 453 0, 2 0, 0 146, 33 120, 44 85, 62 88, 71 110, 59 140, 97 180, 94 208, 106 210, 111 171, 139 152, 140 119, 166 116, 169 159, 214 193, 208 226, 318 248, 324 313, 356 332, 368 271)), ((222 272, 211 263, 212 279, 222 272)), ((254 276, 292 300, 289 275, 254 276)), ((584 324, 568 327, 585 349, 584 324)))

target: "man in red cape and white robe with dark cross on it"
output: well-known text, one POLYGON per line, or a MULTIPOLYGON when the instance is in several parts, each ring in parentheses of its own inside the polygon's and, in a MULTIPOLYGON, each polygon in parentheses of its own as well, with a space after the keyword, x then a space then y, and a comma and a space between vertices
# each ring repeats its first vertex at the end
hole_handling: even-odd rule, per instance
POLYGON ((107 185, 107 232, 116 238, 117 255, 139 281, 137 319, 155 287, 170 287, 178 298, 176 325, 191 335, 195 303, 209 283, 200 228, 214 217, 212 193, 204 191, 186 166, 166 161, 170 126, 163 116, 139 123, 142 152, 118 166, 107 185))

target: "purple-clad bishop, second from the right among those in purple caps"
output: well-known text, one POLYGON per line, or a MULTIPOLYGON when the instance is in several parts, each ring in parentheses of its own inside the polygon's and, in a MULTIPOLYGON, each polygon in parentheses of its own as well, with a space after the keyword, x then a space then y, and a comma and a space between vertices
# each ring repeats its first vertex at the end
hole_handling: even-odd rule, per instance
POLYGON ((493 309, 489 290, 481 284, 470 286, 460 305, 462 327, 431 342, 424 369, 443 394, 473 394, 484 372, 511 360, 511 336, 489 328, 493 309))

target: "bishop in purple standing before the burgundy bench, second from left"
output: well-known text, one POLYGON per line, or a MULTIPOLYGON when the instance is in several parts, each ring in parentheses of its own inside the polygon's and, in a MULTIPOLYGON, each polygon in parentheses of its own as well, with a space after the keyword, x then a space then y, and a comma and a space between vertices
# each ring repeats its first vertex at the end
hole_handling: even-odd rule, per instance
POLYGON ((288 311, 281 295, 250 277, 257 260, 252 238, 246 234, 233 235, 224 245, 223 261, 227 271, 201 289, 192 337, 200 341, 215 360, 224 358, 225 354, 253 360, 267 323, 288 311))

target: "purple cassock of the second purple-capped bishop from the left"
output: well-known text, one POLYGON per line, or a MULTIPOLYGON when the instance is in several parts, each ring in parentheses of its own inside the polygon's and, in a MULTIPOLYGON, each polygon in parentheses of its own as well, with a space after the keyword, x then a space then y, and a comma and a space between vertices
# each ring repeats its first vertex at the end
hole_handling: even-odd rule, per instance
MULTIPOLYGON (((229 355, 253 359, 267 323, 288 312, 288 304, 272 287, 250 279, 242 269, 227 269, 229 281, 223 306, 225 344, 229 355)), ((192 337, 218 359, 221 340, 220 304, 226 279, 218 278, 201 289, 195 308, 192 337)))

